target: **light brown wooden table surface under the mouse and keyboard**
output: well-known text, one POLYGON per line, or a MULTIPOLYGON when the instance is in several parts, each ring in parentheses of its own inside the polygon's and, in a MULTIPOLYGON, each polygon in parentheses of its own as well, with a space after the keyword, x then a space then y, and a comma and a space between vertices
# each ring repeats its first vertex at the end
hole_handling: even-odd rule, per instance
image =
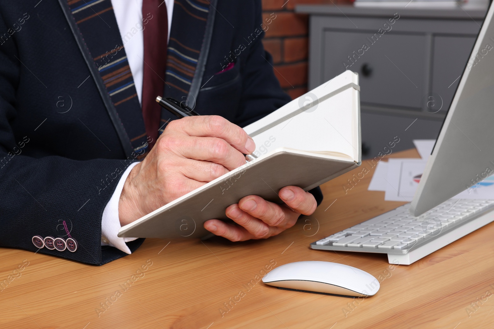
POLYGON ((393 266, 384 254, 309 249, 402 204, 367 190, 372 172, 364 161, 324 184, 313 216, 267 240, 147 239, 132 255, 99 267, 2 248, 0 281, 24 267, 0 292, 0 328, 493 328, 494 223, 412 265, 393 266), (371 172, 345 194, 343 185, 363 167, 371 172), (301 260, 358 267, 381 288, 359 300, 260 281, 263 269, 301 260))

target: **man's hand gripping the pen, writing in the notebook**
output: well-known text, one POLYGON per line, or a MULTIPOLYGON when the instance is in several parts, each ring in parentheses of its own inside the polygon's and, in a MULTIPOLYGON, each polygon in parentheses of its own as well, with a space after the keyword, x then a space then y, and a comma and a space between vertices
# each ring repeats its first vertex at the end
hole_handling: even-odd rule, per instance
POLYGON ((135 165, 119 201, 122 226, 246 163, 254 141, 217 115, 188 116, 168 123, 155 146, 135 165))

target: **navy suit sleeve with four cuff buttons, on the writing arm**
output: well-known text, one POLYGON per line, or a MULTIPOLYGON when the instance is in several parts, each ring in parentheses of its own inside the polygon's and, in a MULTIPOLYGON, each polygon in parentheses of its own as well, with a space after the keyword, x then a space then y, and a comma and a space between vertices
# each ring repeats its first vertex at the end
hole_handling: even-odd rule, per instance
MULTIPOLYGON (((7 29, 0 19, 0 30, 7 29)), ((21 61, 22 55, 17 53, 14 42, 0 46, 0 246, 95 265, 126 255, 113 247, 101 247, 101 217, 119 174, 133 161, 77 161, 57 155, 37 158, 37 146, 46 142, 36 130, 49 129, 49 121, 53 118, 47 118, 38 128, 21 136, 13 131, 16 89, 22 83, 19 81, 20 70, 28 70, 21 61), (78 243, 75 252, 38 249, 33 244, 34 235, 66 239, 64 220, 70 235, 78 243)), ((32 78, 36 79, 35 76, 32 78)), ((31 110, 36 111, 36 99, 33 99, 31 110)), ((60 138, 65 140, 60 143, 67 143, 71 137, 60 138)), ((143 239, 130 242, 130 250, 135 250, 142 242, 143 239)))

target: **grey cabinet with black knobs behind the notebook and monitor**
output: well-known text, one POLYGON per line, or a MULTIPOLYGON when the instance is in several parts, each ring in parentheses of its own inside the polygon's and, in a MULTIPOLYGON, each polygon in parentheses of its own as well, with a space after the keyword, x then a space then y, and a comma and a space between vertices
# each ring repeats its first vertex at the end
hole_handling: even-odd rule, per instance
POLYGON ((359 73, 363 158, 395 136, 395 151, 436 138, 486 10, 298 5, 310 15, 308 88, 359 73))

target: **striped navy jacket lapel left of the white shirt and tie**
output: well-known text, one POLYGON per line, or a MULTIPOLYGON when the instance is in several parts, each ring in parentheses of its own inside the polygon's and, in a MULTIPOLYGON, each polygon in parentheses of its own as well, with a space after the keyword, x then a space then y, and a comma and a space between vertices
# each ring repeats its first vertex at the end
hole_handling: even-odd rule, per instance
POLYGON ((147 136, 111 0, 59 0, 125 153, 143 153, 147 136))

